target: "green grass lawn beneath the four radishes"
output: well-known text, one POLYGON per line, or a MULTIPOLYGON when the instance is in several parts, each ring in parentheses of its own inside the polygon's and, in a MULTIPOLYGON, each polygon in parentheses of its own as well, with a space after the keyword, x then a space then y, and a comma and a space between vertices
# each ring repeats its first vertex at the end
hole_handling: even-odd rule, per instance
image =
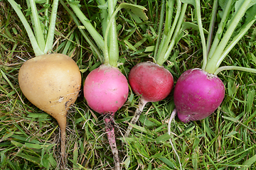
MULTIPOLYGON (((130 2, 130 1, 127 1, 130 2)), ((132 2, 132 1, 131 1, 132 2)), ((23 2, 25 3, 25 2, 23 2)), ((203 1, 203 26, 208 28, 209 1, 203 1)), ((81 4, 84 4, 81 1, 81 4)), ((156 42, 160 2, 139 1, 149 10, 149 21, 139 21, 132 13, 119 13, 119 69, 127 76, 138 62, 152 60, 156 42)), ((60 130, 50 115, 31 104, 18 86, 18 69, 23 60, 33 57, 26 31, 6 1, 0 1, 0 169, 58 169, 60 130)), ((97 4, 82 6, 84 13, 101 31, 97 4)), ((196 23, 193 7, 188 6, 186 20, 196 23)), ((223 64, 256 68, 255 26, 235 45, 223 64)), ((82 38, 78 28, 60 6, 56 23, 55 52, 64 52, 78 63, 82 79, 100 62, 82 38), (64 15, 65 14, 65 15, 64 15)), ((202 47, 198 31, 186 30, 165 67, 174 81, 187 69, 201 67, 202 47)), ((181 159, 183 169, 255 169, 256 103, 255 74, 221 72, 225 99, 205 120, 167 124, 174 109, 172 93, 163 101, 148 103, 129 138, 124 142, 128 122, 136 110, 138 96, 129 93, 127 103, 116 113, 116 137, 123 169, 174 169, 181 159)), ((100 114, 90 110, 81 91, 68 113, 68 169, 111 169, 112 152, 100 114)))

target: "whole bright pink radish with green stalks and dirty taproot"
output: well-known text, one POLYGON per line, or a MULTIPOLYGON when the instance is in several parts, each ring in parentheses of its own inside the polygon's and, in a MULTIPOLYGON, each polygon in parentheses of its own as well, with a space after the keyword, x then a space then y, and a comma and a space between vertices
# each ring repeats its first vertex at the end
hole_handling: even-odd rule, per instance
MULTIPOLYGON (((120 72, 117 68, 119 50, 117 45, 117 28, 114 17, 121 8, 129 8, 131 10, 136 10, 140 17, 146 19, 144 14, 145 8, 143 6, 122 3, 114 11, 116 1, 107 1, 108 8, 107 10, 102 8, 101 15, 102 30, 104 30, 103 39, 102 36, 97 33, 97 30, 95 30, 90 21, 82 13, 76 2, 68 1, 68 4, 78 18, 73 15, 72 11, 69 10, 68 6, 66 6, 62 0, 60 0, 60 3, 63 4, 78 26, 78 18, 80 19, 90 35, 92 35, 97 47, 100 48, 98 49, 87 34, 81 30, 82 35, 85 37, 87 42, 92 45, 92 48, 94 51, 96 51, 97 56, 102 62, 102 65, 97 69, 92 70, 92 72, 90 72, 85 79, 83 89, 85 100, 92 110, 104 115, 107 138, 114 157, 114 169, 119 170, 119 155, 114 136, 114 113, 124 105, 125 101, 127 101, 129 87, 126 77, 124 77, 124 74, 122 74, 122 72, 120 72), (103 52, 103 57, 100 54, 100 50, 103 52)), ((104 0, 100 1, 100 6, 105 4, 106 2, 104 0)))

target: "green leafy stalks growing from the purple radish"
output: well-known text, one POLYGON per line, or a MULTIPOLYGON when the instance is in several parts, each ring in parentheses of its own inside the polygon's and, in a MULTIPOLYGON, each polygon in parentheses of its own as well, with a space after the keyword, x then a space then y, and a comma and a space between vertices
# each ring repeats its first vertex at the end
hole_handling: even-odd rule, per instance
MULTIPOLYGON (((182 0, 188 2, 188 0, 182 0)), ((199 0, 190 0, 191 4, 195 5, 196 15, 198 23, 201 22, 201 7, 199 0), (196 5, 198 4, 198 5, 196 5)), ((217 4, 215 0, 213 4, 217 4)), ((208 44, 207 47, 203 45, 203 67, 202 69, 212 74, 218 74, 225 69, 239 69, 247 72, 255 72, 254 69, 242 68, 242 67, 223 67, 219 68, 221 62, 228 55, 228 52, 236 45, 236 43, 247 33, 247 30, 256 21, 256 1, 255 0, 220 0, 218 1, 220 6, 221 21, 218 25, 218 30, 215 33, 215 38, 212 44, 208 44), (208 50, 206 50, 209 48, 208 50)), ((214 6, 212 16, 217 13, 218 5, 214 6)), ((214 18, 214 17, 212 17, 214 18)), ((212 20, 211 23, 214 23, 212 20)), ((203 36, 203 27, 198 24, 202 43, 206 40, 203 36)), ((213 30, 209 31, 213 34, 213 30)))

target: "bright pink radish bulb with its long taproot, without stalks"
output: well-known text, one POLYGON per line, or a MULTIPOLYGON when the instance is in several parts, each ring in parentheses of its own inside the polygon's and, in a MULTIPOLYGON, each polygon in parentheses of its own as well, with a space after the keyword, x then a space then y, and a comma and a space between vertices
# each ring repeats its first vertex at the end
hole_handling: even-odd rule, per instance
POLYGON ((128 82, 117 67, 102 64, 85 79, 84 96, 92 110, 105 115, 107 138, 114 155, 115 169, 119 167, 117 144, 114 137, 114 113, 121 108, 129 93, 128 82))

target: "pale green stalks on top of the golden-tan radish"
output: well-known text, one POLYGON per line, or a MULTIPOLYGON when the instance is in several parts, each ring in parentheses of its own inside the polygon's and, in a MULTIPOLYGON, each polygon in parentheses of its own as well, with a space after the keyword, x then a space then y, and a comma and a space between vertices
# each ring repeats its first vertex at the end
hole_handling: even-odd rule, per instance
MULTIPOLYGON (((31 16, 32 21, 32 28, 29 25, 26 16, 24 16, 23 12, 21 11, 21 6, 16 4, 14 0, 8 0, 11 6, 16 11, 18 17, 21 19, 23 26, 28 33, 28 38, 31 41, 31 45, 33 50, 38 55, 45 55, 53 48, 53 38, 54 38, 54 31, 55 31, 55 20, 57 16, 57 9, 58 9, 58 0, 53 0, 52 4, 52 11, 50 15, 50 23, 48 24, 48 8, 50 4, 46 0, 28 0, 27 6, 28 8, 26 11, 26 16, 31 16), (38 11, 36 8, 36 4, 44 4, 45 9, 43 9, 45 16, 43 20, 38 15, 38 11), (44 22, 43 22, 44 21, 44 22)), ((41 11, 41 12, 43 12, 41 11)))

